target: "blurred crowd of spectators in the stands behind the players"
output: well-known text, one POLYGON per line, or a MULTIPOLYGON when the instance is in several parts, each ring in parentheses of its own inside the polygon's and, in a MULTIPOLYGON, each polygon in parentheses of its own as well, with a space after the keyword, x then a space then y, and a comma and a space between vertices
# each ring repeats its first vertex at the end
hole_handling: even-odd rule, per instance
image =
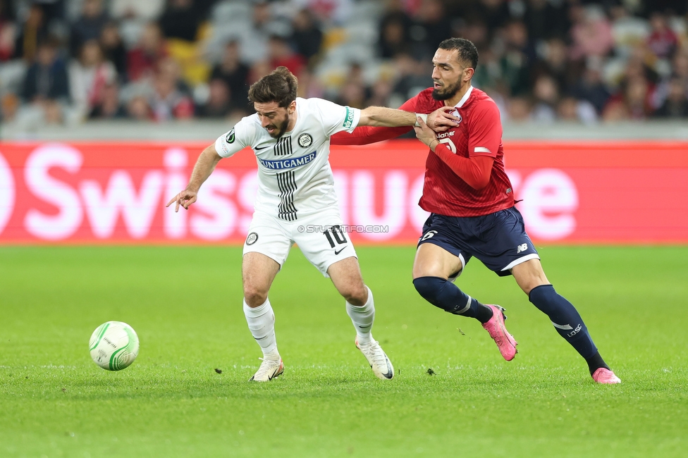
POLYGON ((0 119, 233 120, 281 65, 302 97, 399 106, 447 37, 505 120, 688 118, 687 23, 672 0, 0 0, 0 119))

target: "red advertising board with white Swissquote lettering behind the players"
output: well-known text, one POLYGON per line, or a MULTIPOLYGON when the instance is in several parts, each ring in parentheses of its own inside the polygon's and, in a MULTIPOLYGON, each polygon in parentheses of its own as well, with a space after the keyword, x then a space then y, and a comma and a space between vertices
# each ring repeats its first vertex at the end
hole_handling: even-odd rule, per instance
MULTIPOLYGON (((250 149, 224 159, 189 211, 199 143, 0 144, 0 244, 241 243, 253 211, 250 149)), ((508 142, 506 168, 538 242, 688 242, 688 143, 508 142)), ((415 140, 332 147, 355 242, 413 244, 427 149, 415 140)))

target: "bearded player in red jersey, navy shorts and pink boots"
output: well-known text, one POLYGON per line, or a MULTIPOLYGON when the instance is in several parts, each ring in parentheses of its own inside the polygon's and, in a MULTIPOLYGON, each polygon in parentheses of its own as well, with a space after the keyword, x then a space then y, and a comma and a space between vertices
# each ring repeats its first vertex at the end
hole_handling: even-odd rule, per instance
MULTIPOLYGON (((477 318, 507 361, 517 342, 504 326, 503 308, 486 305, 462 292, 454 280, 475 256, 498 276, 512 275, 530 302, 543 311, 558 333, 586 360, 598 383, 620 383, 604 362, 575 307, 555 292, 540 264, 508 176, 499 110, 485 92, 472 87, 478 52, 472 42, 450 38, 434 58, 433 87, 400 109, 417 113, 418 140, 430 148, 419 205, 431 212, 418 242, 413 284, 428 302, 451 314, 477 318), (426 113, 446 106, 459 120, 437 133, 426 113)), ((333 144, 368 144, 388 140, 410 128, 356 128, 340 132, 333 144)))

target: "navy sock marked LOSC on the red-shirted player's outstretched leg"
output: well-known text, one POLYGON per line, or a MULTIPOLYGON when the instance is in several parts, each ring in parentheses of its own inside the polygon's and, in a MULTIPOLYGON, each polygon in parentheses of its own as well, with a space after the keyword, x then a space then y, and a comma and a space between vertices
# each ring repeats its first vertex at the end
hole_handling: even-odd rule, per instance
MULTIPOLYGON (((565 338, 586 361, 587 359, 594 361, 595 355, 599 354, 597 347, 590 337, 588 328, 583 323, 583 318, 571 302, 558 295, 552 285, 534 287, 530 291, 529 300, 535 307, 549 316, 559 335, 565 338)), ((601 360, 601 357, 599 359, 601 360)))

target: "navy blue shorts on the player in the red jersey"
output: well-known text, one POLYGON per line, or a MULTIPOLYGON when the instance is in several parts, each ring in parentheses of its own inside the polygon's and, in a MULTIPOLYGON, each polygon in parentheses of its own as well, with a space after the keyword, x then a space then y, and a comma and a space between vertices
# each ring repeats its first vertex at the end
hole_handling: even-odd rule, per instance
POLYGON ((540 259, 515 206, 484 216, 431 213, 418 240, 419 246, 423 243, 458 256, 464 267, 475 256, 498 276, 509 276, 513 266, 540 259))

